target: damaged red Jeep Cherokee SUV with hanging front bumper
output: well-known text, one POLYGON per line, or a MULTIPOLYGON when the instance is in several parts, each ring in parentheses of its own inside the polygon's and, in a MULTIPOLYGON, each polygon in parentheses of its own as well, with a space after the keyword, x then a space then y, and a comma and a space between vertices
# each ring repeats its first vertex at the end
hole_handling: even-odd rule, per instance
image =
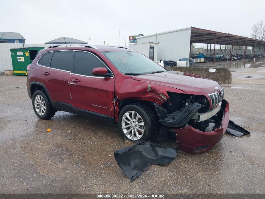
POLYGON ((39 118, 58 110, 101 118, 136 143, 174 132, 179 149, 190 153, 209 150, 224 135, 228 102, 217 82, 165 69, 127 47, 62 45, 41 50, 28 66, 39 118))

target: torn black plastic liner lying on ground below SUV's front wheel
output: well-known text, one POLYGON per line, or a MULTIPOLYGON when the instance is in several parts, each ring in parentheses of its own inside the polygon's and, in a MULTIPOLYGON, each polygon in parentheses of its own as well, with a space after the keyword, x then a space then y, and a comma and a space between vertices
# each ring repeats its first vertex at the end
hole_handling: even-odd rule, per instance
POLYGON ((141 142, 114 152, 114 158, 123 173, 134 181, 150 164, 167 165, 177 156, 178 148, 141 142))

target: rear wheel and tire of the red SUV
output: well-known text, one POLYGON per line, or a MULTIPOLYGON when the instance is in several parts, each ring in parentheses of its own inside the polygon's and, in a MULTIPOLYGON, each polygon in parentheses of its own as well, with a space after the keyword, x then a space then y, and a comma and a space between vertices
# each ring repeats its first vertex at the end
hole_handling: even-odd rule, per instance
POLYGON ((48 97, 45 95, 43 91, 34 92, 32 96, 32 107, 33 107, 35 114, 40 119, 51 119, 55 114, 55 111, 52 105, 50 104, 50 100, 48 99, 48 97), (38 108, 38 107, 41 107, 41 108, 38 108))

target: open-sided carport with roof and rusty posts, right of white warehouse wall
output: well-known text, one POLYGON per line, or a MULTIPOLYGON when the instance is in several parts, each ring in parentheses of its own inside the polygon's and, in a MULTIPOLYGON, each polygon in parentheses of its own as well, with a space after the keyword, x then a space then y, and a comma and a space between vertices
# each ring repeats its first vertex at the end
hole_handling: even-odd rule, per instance
MULTIPOLYGON (((216 32, 212 30, 205 30, 201 28, 195 28, 191 27, 191 35, 190 35, 190 54, 191 54, 191 43, 203 43, 203 44, 210 44, 214 45, 214 57, 213 57, 213 63, 215 63, 215 46, 216 44, 219 45, 225 45, 225 46, 231 46, 231 49, 233 49, 234 46, 244 46, 244 59, 246 56, 246 47, 252 47, 252 54, 255 55, 255 53, 262 53, 264 55, 265 53, 265 41, 253 39, 249 37, 244 36, 238 36, 238 35, 232 35, 229 33, 223 33, 223 32, 216 32)), ((239 50, 239 49, 238 49, 239 50)), ((236 48, 237 51, 237 48, 236 48)), ((232 55, 232 51, 231 51, 232 55)))

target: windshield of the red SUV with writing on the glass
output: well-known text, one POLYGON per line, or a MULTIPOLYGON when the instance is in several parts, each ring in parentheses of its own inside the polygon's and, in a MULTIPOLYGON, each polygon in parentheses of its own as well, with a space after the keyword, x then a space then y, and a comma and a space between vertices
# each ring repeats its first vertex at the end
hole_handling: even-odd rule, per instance
POLYGON ((159 64, 137 52, 112 51, 103 55, 125 75, 144 75, 167 71, 159 64))

